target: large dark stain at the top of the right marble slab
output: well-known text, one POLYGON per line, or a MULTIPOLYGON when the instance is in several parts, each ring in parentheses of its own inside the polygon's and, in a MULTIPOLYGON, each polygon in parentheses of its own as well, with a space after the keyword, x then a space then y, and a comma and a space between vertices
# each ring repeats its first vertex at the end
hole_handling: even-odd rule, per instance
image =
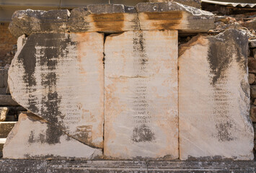
POLYGON ((237 63, 247 70, 247 45, 248 39, 239 30, 226 30, 216 37, 209 37, 210 46, 208 48, 208 63, 211 68, 213 78, 211 84, 215 86, 218 79, 223 76, 226 69, 233 61, 234 53, 237 55, 237 63))

